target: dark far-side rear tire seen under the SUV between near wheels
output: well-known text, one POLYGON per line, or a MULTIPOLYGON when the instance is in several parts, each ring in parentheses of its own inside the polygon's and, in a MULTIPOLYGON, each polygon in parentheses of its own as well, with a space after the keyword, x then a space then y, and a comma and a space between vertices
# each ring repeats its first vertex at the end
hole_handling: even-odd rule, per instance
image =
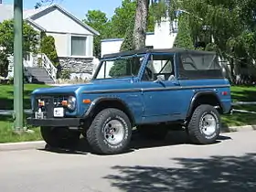
POLYGON ((145 139, 164 140, 168 133, 167 126, 162 124, 144 124, 136 128, 138 133, 145 139))

